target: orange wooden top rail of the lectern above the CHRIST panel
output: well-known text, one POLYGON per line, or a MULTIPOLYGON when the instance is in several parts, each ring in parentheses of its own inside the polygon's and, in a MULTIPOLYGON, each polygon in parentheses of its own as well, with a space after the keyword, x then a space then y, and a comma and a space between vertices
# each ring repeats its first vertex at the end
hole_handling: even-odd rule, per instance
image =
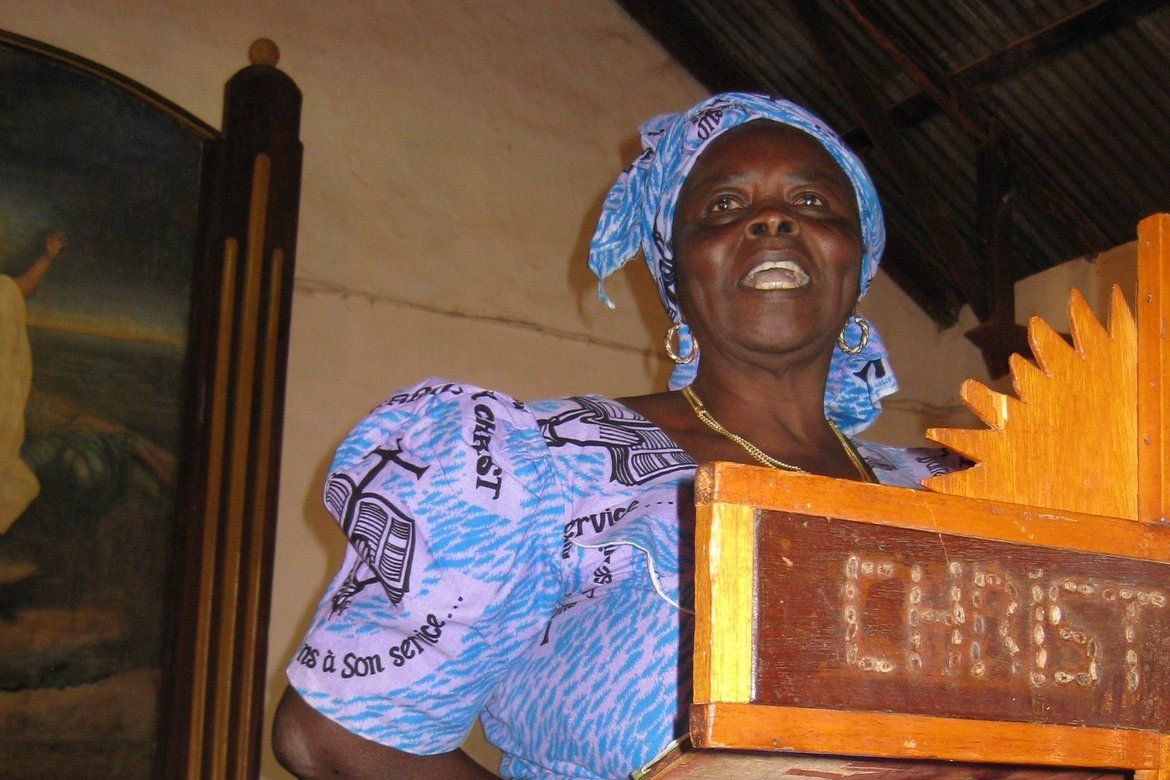
POLYGON ((698 504, 722 502, 790 512, 814 510, 830 517, 904 529, 1106 555, 1170 560, 1170 527, 737 463, 701 467, 695 477, 695 501, 698 504))

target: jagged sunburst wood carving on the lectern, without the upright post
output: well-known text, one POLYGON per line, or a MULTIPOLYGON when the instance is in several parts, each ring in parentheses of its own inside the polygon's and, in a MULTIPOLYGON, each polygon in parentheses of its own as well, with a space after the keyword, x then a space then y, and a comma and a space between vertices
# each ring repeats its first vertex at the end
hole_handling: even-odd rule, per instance
POLYGON ((1137 519, 1137 329, 1113 289, 1106 330, 1076 290, 1073 346, 1042 319, 1028 323, 1039 366, 1011 357, 1016 396, 975 380, 963 402, 989 428, 931 428, 927 437, 973 460, 932 477, 930 490, 1137 519))

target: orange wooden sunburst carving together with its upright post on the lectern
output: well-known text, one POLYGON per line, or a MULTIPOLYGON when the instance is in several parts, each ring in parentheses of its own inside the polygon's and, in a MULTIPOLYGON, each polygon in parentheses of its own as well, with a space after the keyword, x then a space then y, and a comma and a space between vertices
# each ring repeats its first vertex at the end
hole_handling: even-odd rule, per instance
POLYGON ((1072 346, 1038 318, 1028 340, 1039 365, 1011 358, 1016 396, 968 380, 962 399, 989 428, 932 428, 931 439, 976 465, 928 479, 930 490, 1107 517, 1163 522, 1162 428, 1170 215, 1138 226, 1135 326, 1114 288, 1108 327, 1076 290, 1072 346), (1140 359, 1141 358, 1141 359, 1140 359))

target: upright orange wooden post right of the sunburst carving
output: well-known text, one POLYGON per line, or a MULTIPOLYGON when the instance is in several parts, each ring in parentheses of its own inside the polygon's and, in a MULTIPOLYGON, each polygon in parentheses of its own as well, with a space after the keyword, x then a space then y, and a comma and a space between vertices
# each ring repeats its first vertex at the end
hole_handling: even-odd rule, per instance
POLYGON ((1168 512, 1165 436, 1170 414, 1166 319, 1170 312, 1170 215, 1155 214, 1137 226, 1137 516, 1165 523, 1168 512))

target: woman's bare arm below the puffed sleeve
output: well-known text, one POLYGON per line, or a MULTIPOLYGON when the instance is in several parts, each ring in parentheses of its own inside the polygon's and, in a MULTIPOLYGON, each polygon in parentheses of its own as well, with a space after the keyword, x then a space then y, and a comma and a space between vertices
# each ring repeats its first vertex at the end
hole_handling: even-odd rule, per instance
POLYGON ((284 690, 273 723, 276 758, 298 778, 494 778, 461 750, 404 753, 353 734, 284 690))

